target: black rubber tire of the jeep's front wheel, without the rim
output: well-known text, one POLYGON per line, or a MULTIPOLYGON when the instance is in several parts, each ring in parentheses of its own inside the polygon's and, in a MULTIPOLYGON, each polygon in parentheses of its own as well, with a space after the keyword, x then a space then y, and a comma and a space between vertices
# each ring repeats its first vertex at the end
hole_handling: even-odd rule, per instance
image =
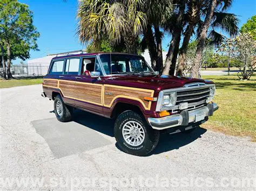
MULTIPOLYGON (((149 154, 158 144, 159 131, 152 129, 139 114, 134 111, 124 111, 120 114, 116 123, 114 124, 114 137, 116 138, 118 146, 126 153, 144 156, 149 154), (135 121, 140 124, 145 132, 145 137, 142 143, 138 146, 132 146, 126 142, 123 137, 124 125, 129 121, 135 121)), ((135 142, 135 141, 134 141, 135 142)), ((138 141, 137 141, 138 142, 138 141)))

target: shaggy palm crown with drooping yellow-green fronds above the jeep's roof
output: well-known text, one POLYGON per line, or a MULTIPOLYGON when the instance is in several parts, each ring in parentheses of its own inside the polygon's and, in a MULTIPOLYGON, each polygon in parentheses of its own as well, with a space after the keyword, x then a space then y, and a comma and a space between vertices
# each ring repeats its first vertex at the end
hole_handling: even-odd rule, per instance
POLYGON ((138 0, 80 2, 79 40, 97 45, 102 40, 118 43, 123 38, 126 51, 137 53, 137 39, 146 25, 146 14, 140 11, 142 6, 143 2, 138 0))

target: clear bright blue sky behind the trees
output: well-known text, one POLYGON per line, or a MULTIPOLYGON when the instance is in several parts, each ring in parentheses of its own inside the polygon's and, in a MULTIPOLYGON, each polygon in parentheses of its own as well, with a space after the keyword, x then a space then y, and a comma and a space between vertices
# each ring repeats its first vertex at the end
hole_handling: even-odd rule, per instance
MULTIPOLYGON (((34 15, 33 24, 41 34, 37 40, 40 51, 30 51, 30 59, 85 48, 76 36, 77 0, 20 0, 19 2, 29 5, 34 15)), ((256 15, 256 0, 234 0, 228 12, 239 16, 240 28, 247 19, 256 15)), ((170 40, 170 35, 165 34, 163 39, 165 51, 168 50, 167 45, 170 40)), ((19 64, 20 61, 20 59, 14 60, 13 64, 19 64)))

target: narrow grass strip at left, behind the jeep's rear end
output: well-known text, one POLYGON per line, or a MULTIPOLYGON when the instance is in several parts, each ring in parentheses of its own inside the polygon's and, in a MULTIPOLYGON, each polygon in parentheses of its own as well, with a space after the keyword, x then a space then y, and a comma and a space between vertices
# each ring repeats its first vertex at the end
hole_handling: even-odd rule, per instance
POLYGON ((16 86, 29 86, 33 84, 43 83, 42 78, 33 79, 12 79, 12 80, 2 80, 0 79, 0 88, 11 88, 16 86))

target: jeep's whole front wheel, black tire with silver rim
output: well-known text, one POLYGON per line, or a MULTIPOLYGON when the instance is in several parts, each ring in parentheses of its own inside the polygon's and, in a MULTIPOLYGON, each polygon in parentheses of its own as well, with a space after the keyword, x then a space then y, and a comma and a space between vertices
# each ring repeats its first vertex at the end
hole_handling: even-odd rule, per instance
POLYGON ((144 156, 157 146, 159 131, 154 130, 134 111, 124 111, 114 124, 114 137, 126 153, 144 156))

